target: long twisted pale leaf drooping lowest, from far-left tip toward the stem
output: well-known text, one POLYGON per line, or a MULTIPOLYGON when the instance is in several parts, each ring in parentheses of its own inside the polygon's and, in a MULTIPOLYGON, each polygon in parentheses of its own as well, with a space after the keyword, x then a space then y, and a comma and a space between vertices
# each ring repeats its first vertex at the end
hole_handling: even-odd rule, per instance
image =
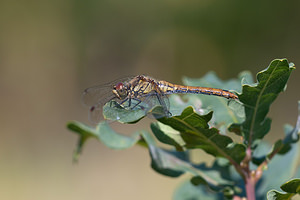
POLYGON ((89 138, 96 138, 112 149, 126 149, 139 142, 141 139, 140 136, 142 136, 150 152, 151 166, 158 173, 170 177, 178 177, 188 172, 194 176, 202 177, 205 180, 205 184, 212 188, 221 188, 223 185, 232 184, 221 176, 202 172, 201 169, 194 167, 189 162, 186 152, 169 151, 157 147, 154 138, 145 131, 125 136, 116 133, 106 122, 101 122, 96 128, 90 128, 80 122, 74 121, 69 122, 67 127, 80 135, 74 159, 77 159, 83 145, 89 138))

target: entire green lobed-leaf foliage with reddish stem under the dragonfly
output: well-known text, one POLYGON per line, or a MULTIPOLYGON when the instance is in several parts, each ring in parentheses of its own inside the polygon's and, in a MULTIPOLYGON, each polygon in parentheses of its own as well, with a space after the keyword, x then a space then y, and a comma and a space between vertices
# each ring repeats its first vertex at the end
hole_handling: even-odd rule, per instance
POLYGON ((100 122, 96 128, 70 122, 68 128, 80 136, 75 158, 89 138, 96 138, 113 149, 138 144, 149 150, 151 167, 156 172, 169 177, 190 174, 190 181, 181 184, 174 199, 232 199, 246 196, 243 189, 251 187, 256 194, 247 193, 249 200, 265 199, 270 190, 268 199, 290 199, 299 193, 299 179, 281 186, 286 193, 277 190, 283 180, 300 176, 300 169, 297 170, 300 101, 296 126, 285 125, 285 137, 272 146, 262 139, 271 126, 271 119, 267 117, 269 108, 286 88, 293 69, 293 64, 286 59, 274 60, 257 74, 257 83, 249 72, 229 81, 221 81, 213 72, 201 79, 185 77, 186 85, 236 92, 239 101, 228 102, 225 98, 208 95, 171 95, 172 117, 161 117, 161 106, 126 109, 115 101, 108 102, 103 108, 106 119, 133 124, 147 115, 153 116, 157 120, 151 123, 153 134, 138 131, 125 136, 116 133, 107 122, 100 122), (241 136, 243 142, 234 141, 229 131, 241 136), (156 139, 169 148, 160 147, 156 139), (215 157, 213 165, 193 163, 190 152, 194 149, 215 157))

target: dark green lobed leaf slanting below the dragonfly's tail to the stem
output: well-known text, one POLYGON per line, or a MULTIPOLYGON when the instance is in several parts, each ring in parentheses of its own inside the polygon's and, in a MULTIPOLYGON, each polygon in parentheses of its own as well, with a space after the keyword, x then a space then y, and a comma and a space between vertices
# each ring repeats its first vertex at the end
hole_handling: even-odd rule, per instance
MULTIPOLYGON (((158 121, 180 132, 181 138, 178 135, 173 137, 177 140, 175 146, 182 143, 179 141, 180 138, 185 142, 185 148, 203 149, 215 157, 224 157, 231 162, 240 163, 245 156, 245 146, 233 143, 230 137, 220 135, 215 128, 209 128, 208 122, 211 117, 212 112, 201 116, 195 113, 192 107, 188 107, 180 116, 160 118, 158 121)), ((160 134, 164 132, 161 130, 160 134)), ((170 137, 168 134, 165 135, 170 137)))

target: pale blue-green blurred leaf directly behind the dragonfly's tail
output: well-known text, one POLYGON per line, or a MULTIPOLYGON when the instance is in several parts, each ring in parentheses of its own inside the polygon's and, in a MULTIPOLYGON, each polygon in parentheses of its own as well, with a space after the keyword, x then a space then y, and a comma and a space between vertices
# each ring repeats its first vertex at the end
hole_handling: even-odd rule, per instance
MULTIPOLYGON (((253 80, 251 73, 248 71, 242 72, 237 79, 228 81, 220 80, 214 72, 209 72, 200 79, 183 78, 183 83, 186 85, 219 88, 236 92, 241 92, 241 82, 252 84, 253 80)), ((224 124, 227 128, 231 123, 241 123, 244 120, 244 108, 238 103, 228 106, 228 100, 225 98, 194 94, 189 94, 184 97, 186 99, 197 97, 202 102, 202 108, 213 110, 213 122, 216 125, 224 124)))

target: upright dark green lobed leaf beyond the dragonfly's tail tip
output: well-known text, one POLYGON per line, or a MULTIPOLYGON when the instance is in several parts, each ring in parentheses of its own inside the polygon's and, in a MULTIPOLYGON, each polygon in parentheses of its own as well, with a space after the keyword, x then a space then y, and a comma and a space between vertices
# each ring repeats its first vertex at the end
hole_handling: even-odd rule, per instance
POLYGON ((243 92, 238 96, 245 105, 246 120, 233 126, 235 130, 240 129, 237 132, 242 133, 246 144, 254 144, 269 132, 271 119, 266 118, 269 107, 285 89, 293 69, 293 64, 289 65, 286 59, 277 59, 257 74, 257 84, 243 85, 243 92))

